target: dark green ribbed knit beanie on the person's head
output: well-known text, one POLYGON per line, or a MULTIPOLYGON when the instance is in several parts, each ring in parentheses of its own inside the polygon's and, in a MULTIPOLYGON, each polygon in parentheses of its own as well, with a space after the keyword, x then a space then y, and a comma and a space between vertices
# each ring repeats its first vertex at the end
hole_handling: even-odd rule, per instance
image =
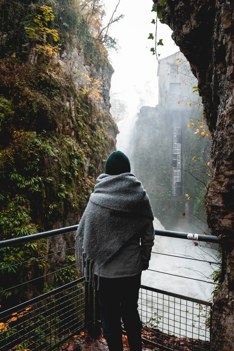
POLYGON ((106 160, 105 173, 114 176, 127 172, 131 172, 128 157, 121 151, 113 151, 106 160))

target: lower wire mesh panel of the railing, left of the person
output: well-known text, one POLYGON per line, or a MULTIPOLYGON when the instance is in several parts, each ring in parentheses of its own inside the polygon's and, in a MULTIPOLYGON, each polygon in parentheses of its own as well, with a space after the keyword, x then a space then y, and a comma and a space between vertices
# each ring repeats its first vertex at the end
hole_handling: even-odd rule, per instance
POLYGON ((52 350, 85 325, 84 278, 1 312, 0 321, 0 350, 52 350))

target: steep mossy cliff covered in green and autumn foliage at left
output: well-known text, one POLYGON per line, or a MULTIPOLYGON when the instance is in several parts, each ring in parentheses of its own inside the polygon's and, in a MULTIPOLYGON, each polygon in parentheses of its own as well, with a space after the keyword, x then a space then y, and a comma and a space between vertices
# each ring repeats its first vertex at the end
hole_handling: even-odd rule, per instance
MULTIPOLYGON (((118 128, 109 113, 114 70, 76 1, 3 1, 0 13, 0 232, 5 239, 79 223, 95 179, 115 149, 118 128), (58 53, 51 54, 53 36, 47 33, 58 33, 58 53)), ((17 259, 73 244, 74 233, 54 237, 25 246, 17 259)), ((11 254, 13 249, 4 260, 11 254)), ((53 272, 65 260, 65 252, 51 255, 47 267, 35 266, 12 279, 20 283, 53 272)), ((47 283, 54 284, 54 278, 51 274, 47 283)), ((34 290, 42 291, 39 285, 34 290)), ((34 290, 29 287, 27 298, 34 290)))

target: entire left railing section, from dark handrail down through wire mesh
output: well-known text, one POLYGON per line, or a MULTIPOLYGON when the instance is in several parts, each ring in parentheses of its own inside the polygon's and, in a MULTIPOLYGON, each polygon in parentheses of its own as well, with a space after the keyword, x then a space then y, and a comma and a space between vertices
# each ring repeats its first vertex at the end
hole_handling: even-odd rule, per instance
POLYGON ((52 350, 85 326, 71 229, 0 242, 0 351, 52 350))

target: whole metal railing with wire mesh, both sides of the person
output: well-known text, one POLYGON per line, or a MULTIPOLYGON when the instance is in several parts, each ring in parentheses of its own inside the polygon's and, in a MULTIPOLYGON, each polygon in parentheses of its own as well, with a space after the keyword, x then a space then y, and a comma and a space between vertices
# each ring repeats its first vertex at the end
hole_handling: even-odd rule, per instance
MULTIPOLYGON (((0 241, 0 351, 49 351, 84 327, 100 335, 98 294, 79 277, 74 257, 76 228, 0 241)), ((212 303, 141 285, 138 305, 143 340, 163 350, 210 350, 212 303)))

